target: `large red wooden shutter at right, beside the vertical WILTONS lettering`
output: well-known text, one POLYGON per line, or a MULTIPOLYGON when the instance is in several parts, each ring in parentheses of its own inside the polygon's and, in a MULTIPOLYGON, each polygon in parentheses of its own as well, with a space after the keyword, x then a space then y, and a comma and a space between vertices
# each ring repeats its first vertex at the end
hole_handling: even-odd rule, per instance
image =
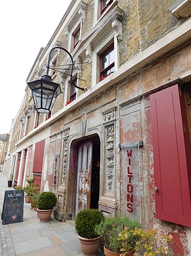
POLYGON ((191 155, 184 133, 188 129, 183 128, 186 126, 183 102, 178 85, 150 95, 155 186, 158 189, 155 193, 156 218, 191 227, 188 174, 191 155))

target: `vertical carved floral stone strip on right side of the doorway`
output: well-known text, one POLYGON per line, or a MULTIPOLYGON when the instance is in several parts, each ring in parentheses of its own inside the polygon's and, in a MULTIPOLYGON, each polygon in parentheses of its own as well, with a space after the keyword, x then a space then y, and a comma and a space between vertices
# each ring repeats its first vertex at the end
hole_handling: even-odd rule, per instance
POLYGON ((111 190, 113 188, 113 176, 114 176, 114 124, 106 127, 106 177, 107 188, 111 190))

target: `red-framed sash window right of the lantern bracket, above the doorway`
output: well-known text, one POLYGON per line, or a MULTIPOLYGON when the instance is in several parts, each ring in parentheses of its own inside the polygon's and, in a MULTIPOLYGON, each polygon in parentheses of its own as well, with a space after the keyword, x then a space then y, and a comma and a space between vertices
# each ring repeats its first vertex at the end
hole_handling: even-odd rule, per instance
POLYGON ((100 55, 100 81, 115 71, 114 44, 100 55))

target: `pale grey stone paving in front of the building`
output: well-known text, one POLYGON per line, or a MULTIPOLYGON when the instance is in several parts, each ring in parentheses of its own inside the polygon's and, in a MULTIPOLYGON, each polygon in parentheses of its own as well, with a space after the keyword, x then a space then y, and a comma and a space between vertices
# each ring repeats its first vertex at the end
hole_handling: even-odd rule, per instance
MULTIPOLYGON (((7 177, 0 173, 0 213, 8 188, 7 177)), ((40 222, 35 210, 24 202, 23 222, 2 225, 0 220, 0 256, 82 256, 74 221, 40 222)), ((103 256, 98 251, 98 256, 103 256)))

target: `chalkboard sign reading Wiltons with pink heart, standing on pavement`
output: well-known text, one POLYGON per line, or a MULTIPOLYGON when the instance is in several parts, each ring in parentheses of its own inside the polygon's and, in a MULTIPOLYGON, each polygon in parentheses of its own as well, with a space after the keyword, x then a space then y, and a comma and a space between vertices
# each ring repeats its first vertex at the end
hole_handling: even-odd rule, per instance
POLYGON ((24 190, 5 191, 2 225, 23 221, 24 190))

